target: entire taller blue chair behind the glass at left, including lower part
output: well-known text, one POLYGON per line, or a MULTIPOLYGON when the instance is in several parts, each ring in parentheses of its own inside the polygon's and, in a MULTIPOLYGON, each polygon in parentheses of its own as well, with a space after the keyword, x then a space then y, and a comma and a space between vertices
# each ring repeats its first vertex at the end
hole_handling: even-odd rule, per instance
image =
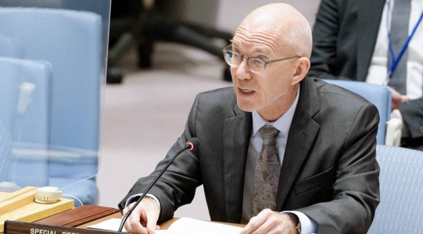
MULTIPOLYGON (((98 173, 100 88, 105 83, 100 72, 101 16, 85 11, 0 7, 0 22, 0 34, 22 41, 23 58, 48 60, 53 68, 48 145, 49 156, 58 160, 49 163, 49 186, 63 188, 63 193, 84 204, 97 204, 94 176, 98 173), (85 180, 87 176, 90 178, 85 180)), ((42 153, 40 145, 30 143, 16 144, 17 152, 32 148, 35 154, 42 153)))

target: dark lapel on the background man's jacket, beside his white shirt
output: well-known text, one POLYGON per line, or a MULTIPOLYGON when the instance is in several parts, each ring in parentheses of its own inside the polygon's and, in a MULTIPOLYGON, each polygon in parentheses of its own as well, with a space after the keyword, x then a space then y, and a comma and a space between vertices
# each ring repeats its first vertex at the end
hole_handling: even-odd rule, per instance
POLYGON ((364 82, 372 60, 385 0, 357 0, 357 79, 364 82))

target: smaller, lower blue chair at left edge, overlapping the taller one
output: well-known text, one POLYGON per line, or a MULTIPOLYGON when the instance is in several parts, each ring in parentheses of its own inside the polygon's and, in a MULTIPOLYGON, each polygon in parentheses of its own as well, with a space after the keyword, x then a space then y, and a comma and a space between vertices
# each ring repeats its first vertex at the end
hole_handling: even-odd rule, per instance
POLYGON ((48 186, 48 158, 16 155, 16 145, 30 140, 44 145, 44 152, 48 150, 51 65, 44 60, 6 57, 0 57, 0 64, 0 70, 4 72, 2 76, 13 79, 13 84, 2 83, 2 87, 16 92, 16 100, 6 104, 11 109, 9 126, 15 133, 12 135, 14 153, 9 157, 8 176, 0 182, 15 182, 20 187, 48 186))

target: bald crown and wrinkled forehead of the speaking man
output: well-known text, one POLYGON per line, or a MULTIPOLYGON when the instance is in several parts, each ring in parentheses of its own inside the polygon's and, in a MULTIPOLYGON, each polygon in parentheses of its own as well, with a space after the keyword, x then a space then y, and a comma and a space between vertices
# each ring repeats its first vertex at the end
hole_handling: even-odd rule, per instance
POLYGON ((302 57, 312 53, 312 31, 307 19, 288 4, 268 4, 248 14, 233 38, 268 46, 302 57))

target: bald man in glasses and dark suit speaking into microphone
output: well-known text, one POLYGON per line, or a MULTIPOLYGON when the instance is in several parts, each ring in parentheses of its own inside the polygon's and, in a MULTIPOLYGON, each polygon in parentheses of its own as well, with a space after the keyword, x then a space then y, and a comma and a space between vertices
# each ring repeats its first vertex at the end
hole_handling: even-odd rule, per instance
POLYGON ((202 184, 212 221, 247 223, 242 234, 366 233, 379 204, 374 105, 305 77, 311 30, 292 6, 257 8, 232 41, 223 54, 233 87, 197 96, 182 136, 119 204, 123 214, 189 138, 200 148, 173 161, 125 228, 154 233, 202 184))

